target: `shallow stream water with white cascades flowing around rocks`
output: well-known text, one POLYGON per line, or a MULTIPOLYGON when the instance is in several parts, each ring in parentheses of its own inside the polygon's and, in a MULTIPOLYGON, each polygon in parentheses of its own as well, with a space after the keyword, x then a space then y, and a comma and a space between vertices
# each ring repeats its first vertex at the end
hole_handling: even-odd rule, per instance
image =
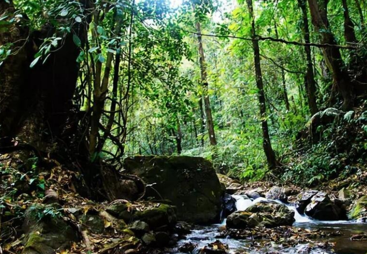
MULTIPOLYGON (((258 198, 253 201, 244 199, 239 195, 232 195, 236 199, 237 210, 245 210, 254 203, 267 201, 265 198, 258 198)), ((275 201, 281 203, 280 201, 275 201)), ((284 203, 285 204, 285 203, 284 203)), ((306 215, 301 215, 292 204, 285 204, 289 209, 294 210, 295 222, 293 227, 303 229, 320 229, 326 233, 332 233, 332 236, 321 238, 321 242, 335 243, 332 250, 324 250, 318 247, 309 248, 307 243, 298 244, 295 247, 271 246, 263 248, 254 248, 254 241, 261 246, 261 240, 236 240, 232 238, 221 238, 221 228, 226 225, 226 219, 221 224, 211 226, 197 226, 192 232, 186 235, 186 239, 179 241, 178 246, 185 243, 194 243, 197 248, 192 254, 198 254, 199 250, 204 246, 220 240, 223 244, 229 246, 229 253, 246 253, 246 254, 367 254, 367 241, 351 241, 350 237, 354 234, 367 232, 367 223, 356 223, 355 221, 319 221, 312 219, 306 215), (335 236, 334 236, 335 235, 335 236)), ((179 251, 174 254, 183 254, 179 251)))

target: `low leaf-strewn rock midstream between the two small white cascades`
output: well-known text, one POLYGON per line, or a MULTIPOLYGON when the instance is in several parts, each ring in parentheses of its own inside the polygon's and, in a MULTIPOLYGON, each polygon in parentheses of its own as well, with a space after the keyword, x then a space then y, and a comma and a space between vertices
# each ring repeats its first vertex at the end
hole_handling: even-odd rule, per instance
POLYGON ((244 211, 236 211, 227 218, 227 227, 241 229, 254 227, 273 228, 291 226, 294 222, 294 211, 275 202, 255 203, 244 211))

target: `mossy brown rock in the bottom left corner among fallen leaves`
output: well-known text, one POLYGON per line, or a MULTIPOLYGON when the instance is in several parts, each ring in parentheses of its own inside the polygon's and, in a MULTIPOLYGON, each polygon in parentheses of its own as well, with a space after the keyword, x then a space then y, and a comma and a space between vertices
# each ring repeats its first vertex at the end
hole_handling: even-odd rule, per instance
POLYGON ((68 249, 73 242, 78 241, 75 230, 51 205, 30 206, 25 212, 22 229, 25 233, 25 247, 22 254, 60 253, 68 249))

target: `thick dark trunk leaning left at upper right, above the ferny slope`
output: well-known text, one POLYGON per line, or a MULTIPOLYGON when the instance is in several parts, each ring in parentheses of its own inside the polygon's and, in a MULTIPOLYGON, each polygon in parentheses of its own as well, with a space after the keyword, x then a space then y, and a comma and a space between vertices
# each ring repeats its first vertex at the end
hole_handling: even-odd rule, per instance
MULTIPOLYGON (((321 35, 321 43, 336 45, 335 37, 330 31, 327 19, 327 2, 328 0, 308 0, 312 23, 321 35)), ((322 49, 322 52, 326 65, 332 72, 332 77, 338 91, 343 97, 342 108, 344 110, 350 109, 353 106, 355 95, 340 51, 335 47, 325 47, 322 49)))

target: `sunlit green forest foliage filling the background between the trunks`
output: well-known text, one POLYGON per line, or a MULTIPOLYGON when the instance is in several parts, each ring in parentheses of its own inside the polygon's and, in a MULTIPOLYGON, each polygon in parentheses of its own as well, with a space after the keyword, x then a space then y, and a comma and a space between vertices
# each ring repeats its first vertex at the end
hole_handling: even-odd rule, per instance
MULTIPOLYGON (((251 24, 244 0, 230 6, 223 1, 184 0, 177 9, 171 8, 168 0, 98 0, 88 11, 79 1, 48 0, 41 4, 14 0, 14 4, 16 13, 0 17, 4 27, 18 22, 30 31, 40 30, 46 24, 54 28, 38 47, 31 67, 45 64, 66 38, 72 38, 79 48, 76 61, 80 72, 74 104, 86 111, 80 123, 83 135, 88 136, 91 131, 96 96, 104 96, 103 113, 97 121, 103 128, 98 126, 97 140, 106 139, 106 142, 98 151, 91 152, 92 161, 118 162, 122 156, 137 153, 174 154, 179 152, 181 142, 183 154, 214 158, 220 171, 241 179, 260 180, 274 173, 266 165, 262 120, 268 122, 277 158, 286 165, 282 176, 286 181, 312 185, 327 180, 347 164, 354 163, 353 156, 365 154, 366 112, 358 115, 359 118, 348 112, 339 125, 321 126, 321 142, 312 147, 309 140, 301 147, 298 144, 311 118, 304 77, 306 56, 299 45, 274 40, 259 42, 267 107, 266 116, 259 114, 259 89, 249 40, 251 24), (209 145, 208 131, 203 126, 205 110, 200 108, 206 91, 201 84, 197 22, 203 34, 216 35, 202 36, 216 148, 209 145), (85 37, 76 29, 80 26, 87 29, 85 37), (227 38, 228 35, 236 38, 227 38), (119 65, 114 66, 118 56, 119 65), (108 73, 100 75, 108 81, 105 91, 96 89, 97 71, 108 73), (106 128, 110 128, 110 135, 104 137, 106 128), (342 148, 343 142, 353 144, 348 147, 351 152, 342 148)), ((341 2, 330 2, 328 13, 329 29, 337 43, 344 45, 341 2)), ((350 3, 350 13, 362 46, 357 51, 341 51, 352 73, 354 66, 363 66, 358 60, 366 59, 363 43, 367 37, 355 3, 350 3)), ((254 1, 254 15, 258 36, 304 41, 297 1, 254 1)), ((311 25, 312 22, 311 41, 319 42, 319 35, 311 25)), ((15 52, 13 44, 1 45, 0 65, 15 52)), ((329 106, 332 76, 320 48, 312 48, 312 58, 318 84, 317 103, 321 109, 329 106)), ((352 74, 356 76, 360 72, 352 74)), ((339 98, 335 103, 339 103, 339 98)), ((31 185, 35 184, 40 191, 45 189, 37 174, 31 179, 31 185)))

